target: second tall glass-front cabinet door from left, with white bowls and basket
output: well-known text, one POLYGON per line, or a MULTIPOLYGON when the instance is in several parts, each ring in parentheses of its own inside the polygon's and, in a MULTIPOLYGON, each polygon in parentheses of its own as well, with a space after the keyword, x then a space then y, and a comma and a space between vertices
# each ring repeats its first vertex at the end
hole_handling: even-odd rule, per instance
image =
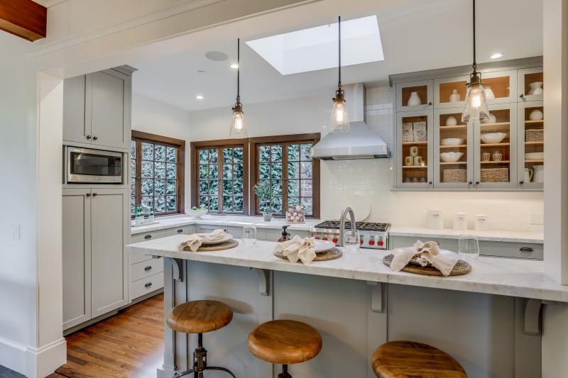
POLYGON ((434 187, 469 189, 474 181, 474 127, 461 121, 462 108, 434 113, 434 187))

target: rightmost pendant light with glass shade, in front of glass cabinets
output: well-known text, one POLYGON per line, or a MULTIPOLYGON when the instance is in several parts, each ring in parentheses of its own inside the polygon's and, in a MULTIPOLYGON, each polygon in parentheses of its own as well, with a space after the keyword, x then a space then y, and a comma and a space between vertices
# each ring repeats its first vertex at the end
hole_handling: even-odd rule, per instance
POLYGON ((489 109, 487 107, 487 99, 485 96, 484 86, 481 84, 481 73, 477 72, 477 63, 475 59, 475 0, 474 1, 474 72, 469 74, 469 83, 467 83, 466 106, 464 112, 461 113, 461 121, 484 121, 489 118, 489 109))

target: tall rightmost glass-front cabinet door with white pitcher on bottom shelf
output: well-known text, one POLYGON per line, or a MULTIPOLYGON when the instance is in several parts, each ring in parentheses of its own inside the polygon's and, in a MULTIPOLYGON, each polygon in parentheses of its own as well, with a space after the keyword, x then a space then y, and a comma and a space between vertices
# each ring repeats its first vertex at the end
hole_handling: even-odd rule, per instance
POLYGON ((545 181, 545 109, 542 101, 518 104, 518 181, 521 189, 542 189, 545 181))

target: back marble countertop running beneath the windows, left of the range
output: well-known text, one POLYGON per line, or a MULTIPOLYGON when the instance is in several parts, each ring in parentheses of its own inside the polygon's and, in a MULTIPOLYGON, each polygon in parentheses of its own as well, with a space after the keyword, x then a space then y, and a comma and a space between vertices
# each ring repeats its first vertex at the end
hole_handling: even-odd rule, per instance
MULTIPOLYGON (((289 230, 310 230, 310 228, 320 223, 320 219, 307 219, 305 223, 291 224, 289 230)), ((158 223, 148 226, 131 227, 131 235, 137 233, 147 233, 148 231, 164 230, 166 228, 187 226, 191 224, 207 224, 213 226, 236 226, 254 225, 258 228, 282 228, 286 224, 283 218, 272 218, 270 222, 263 221, 261 216, 210 216, 204 215, 202 218, 192 218, 190 216, 176 216, 171 218, 160 218, 158 223)))

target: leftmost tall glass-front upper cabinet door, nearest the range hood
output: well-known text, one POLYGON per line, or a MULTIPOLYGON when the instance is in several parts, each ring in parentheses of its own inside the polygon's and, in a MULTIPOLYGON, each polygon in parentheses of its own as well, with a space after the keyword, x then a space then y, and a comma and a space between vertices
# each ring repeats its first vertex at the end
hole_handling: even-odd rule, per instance
POLYGON ((396 187, 432 188, 433 112, 401 112, 397 118, 396 187))

